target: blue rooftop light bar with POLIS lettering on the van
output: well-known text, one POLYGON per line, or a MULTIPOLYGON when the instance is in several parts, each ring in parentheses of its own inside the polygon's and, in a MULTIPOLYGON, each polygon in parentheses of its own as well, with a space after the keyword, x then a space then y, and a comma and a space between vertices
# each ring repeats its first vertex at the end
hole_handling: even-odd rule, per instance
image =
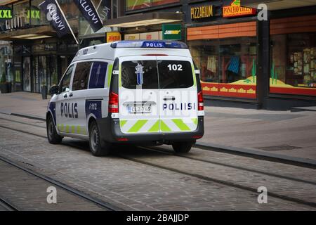
POLYGON ((145 49, 188 49, 187 45, 180 41, 116 41, 111 44, 113 49, 117 48, 145 48, 145 49))

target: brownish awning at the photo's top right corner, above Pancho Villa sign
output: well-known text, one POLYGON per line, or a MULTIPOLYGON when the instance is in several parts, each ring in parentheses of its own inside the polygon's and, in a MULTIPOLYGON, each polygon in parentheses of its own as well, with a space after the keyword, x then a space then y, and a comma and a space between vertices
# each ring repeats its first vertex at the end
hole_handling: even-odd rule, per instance
POLYGON ((287 8, 300 8, 316 5, 316 0, 242 0, 241 6, 257 8, 258 4, 266 4, 269 11, 275 11, 287 8))

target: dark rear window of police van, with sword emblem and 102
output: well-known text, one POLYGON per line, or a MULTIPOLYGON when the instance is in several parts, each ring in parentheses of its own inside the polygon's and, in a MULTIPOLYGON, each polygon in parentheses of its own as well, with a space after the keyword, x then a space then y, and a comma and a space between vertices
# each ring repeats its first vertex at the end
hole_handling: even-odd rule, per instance
POLYGON ((134 60, 121 64, 126 89, 181 89, 193 85, 191 63, 176 60, 134 60))

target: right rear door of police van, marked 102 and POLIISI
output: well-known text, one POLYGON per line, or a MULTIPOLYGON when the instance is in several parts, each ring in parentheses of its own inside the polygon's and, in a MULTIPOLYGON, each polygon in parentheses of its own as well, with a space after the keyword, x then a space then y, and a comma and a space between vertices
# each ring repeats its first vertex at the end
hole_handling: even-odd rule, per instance
POLYGON ((166 132, 197 129, 197 81, 191 58, 158 56, 160 128, 166 132))

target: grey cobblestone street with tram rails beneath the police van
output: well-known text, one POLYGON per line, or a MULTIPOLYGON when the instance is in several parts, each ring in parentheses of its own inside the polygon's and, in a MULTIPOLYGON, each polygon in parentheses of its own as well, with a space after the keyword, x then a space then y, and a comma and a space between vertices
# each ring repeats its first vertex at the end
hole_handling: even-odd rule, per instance
MULTIPOLYGON (((315 210, 315 169, 197 148, 183 158, 163 153, 169 146, 120 146, 96 158, 87 141, 49 144, 45 122, 11 115, 0 122, 2 158, 121 210, 315 210), (266 204, 257 201, 259 186, 268 188, 266 204)), ((48 204, 52 184, 0 167, 1 198, 22 210, 104 210, 62 190, 58 204, 48 204)))

